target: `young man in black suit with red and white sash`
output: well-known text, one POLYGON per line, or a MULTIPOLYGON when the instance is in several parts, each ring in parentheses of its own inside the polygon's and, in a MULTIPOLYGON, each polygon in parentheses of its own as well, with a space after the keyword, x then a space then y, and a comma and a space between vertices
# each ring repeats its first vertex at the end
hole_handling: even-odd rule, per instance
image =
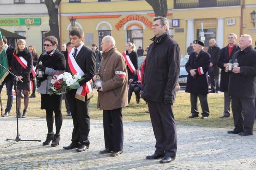
MULTIPOLYGON (((90 117, 89 117, 89 103, 93 92, 90 91, 83 96, 79 90, 81 87, 92 89, 92 83, 88 84, 93 75, 95 74, 96 67, 96 54, 95 52, 86 47, 83 43, 84 32, 80 28, 74 28, 70 31, 70 41, 74 47, 69 51, 68 64, 66 67, 66 72, 79 73, 83 72, 82 80, 78 83, 71 85, 72 90, 67 92, 66 97, 69 102, 71 116, 73 119, 73 133, 72 133, 72 143, 68 146, 64 146, 64 149, 74 149, 77 148, 77 152, 85 151, 89 148, 89 131, 90 131, 90 117), (70 56, 72 55, 72 56, 70 56)), ((83 89, 83 88, 82 88, 83 89)))

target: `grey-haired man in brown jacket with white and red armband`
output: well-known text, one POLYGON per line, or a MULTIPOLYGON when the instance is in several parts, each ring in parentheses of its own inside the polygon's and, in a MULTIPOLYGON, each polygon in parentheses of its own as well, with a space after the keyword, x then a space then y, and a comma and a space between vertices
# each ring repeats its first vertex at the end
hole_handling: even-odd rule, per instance
MULTIPOLYGON (((123 55, 117 51, 112 36, 105 36, 101 43, 102 57, 98 74, 103 80, 99 86, 97 108, 103 110, 105 150, 117 156, 123 152, 124 128, 122 107, 128 105, 127 66, 123 55)), ((96 81, 96 75, 93 80, 96 81)))

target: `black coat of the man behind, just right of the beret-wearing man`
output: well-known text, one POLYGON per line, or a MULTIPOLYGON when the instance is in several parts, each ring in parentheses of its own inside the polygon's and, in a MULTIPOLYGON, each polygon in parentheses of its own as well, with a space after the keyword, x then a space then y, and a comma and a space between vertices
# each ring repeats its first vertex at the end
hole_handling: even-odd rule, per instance
POLYGON ((219 69, 217 65, 218 57, 219 57, 219 51, 221 48, 218 46, 210 47, 207 52, 211 55, 211 63, 213 64, 213 71, 208 72, 209 75, 219 75, 221 73, 221 69, 219 69))

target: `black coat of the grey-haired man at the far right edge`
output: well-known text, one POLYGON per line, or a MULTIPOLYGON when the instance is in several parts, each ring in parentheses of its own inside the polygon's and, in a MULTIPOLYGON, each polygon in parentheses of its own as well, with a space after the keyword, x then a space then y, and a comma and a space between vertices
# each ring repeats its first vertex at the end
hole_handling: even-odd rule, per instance
POLYGON ((237 58, 240 73, 229 72, 228 95, 236 97, 255 98, 256 95, 256 50, 250 45, 239 50, 232 56, 232 62, 237 58))

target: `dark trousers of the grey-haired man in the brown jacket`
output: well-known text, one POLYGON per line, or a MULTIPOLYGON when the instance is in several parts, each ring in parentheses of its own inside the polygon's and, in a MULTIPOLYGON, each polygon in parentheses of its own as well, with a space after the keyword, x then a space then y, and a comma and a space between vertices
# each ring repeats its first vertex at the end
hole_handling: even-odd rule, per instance
POLYGON ((103 110, 105 148, 120 151, 124 148, 122 108, 103 110))

